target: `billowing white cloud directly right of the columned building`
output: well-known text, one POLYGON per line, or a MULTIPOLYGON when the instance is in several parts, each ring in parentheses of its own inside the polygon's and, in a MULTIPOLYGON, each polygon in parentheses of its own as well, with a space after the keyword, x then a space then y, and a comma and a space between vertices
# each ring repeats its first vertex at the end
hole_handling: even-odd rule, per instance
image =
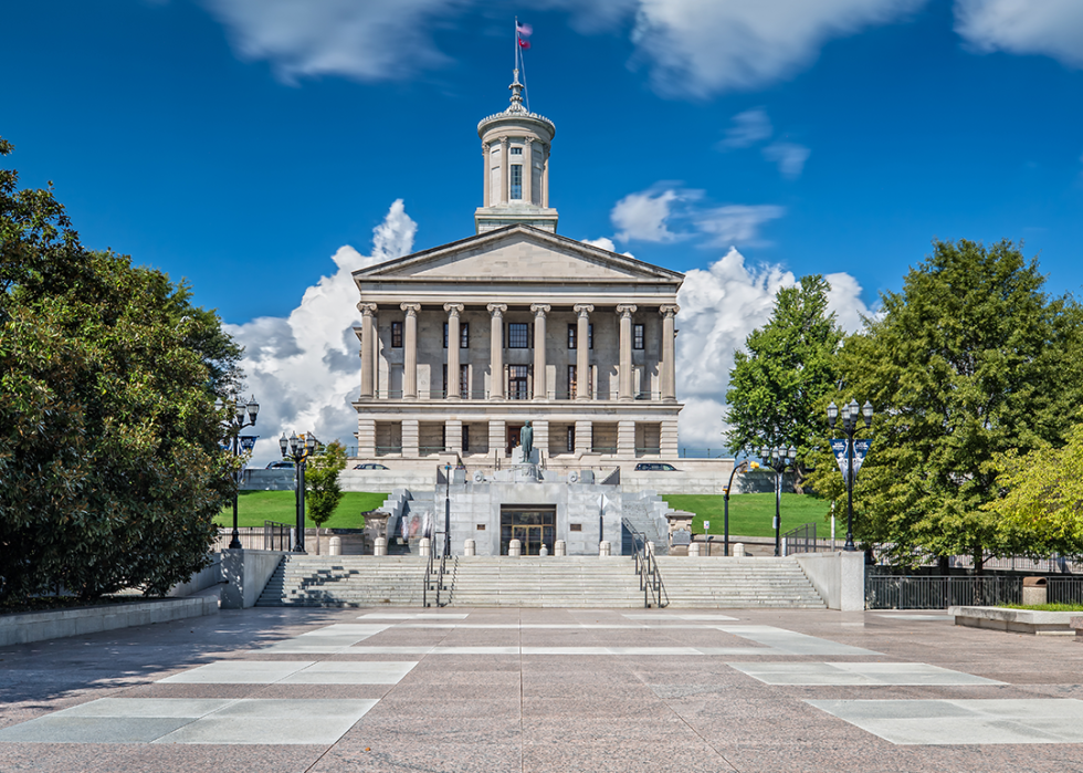
MULTIPOLYGON (((859 330, 860 315, 868 315, 869 309, 856 280, 845 273, 824 279, 831 283, 828 304, 839 324, 848 332, 859 330)), ((748 268, 735 249, 706 270, 687 272, 677 295, 677 399, 685 404, 679 428, 682 447, 724 447, 734 352, 770 320, 775 294, 796 284, 797 278, 778 265, 748 268)))

